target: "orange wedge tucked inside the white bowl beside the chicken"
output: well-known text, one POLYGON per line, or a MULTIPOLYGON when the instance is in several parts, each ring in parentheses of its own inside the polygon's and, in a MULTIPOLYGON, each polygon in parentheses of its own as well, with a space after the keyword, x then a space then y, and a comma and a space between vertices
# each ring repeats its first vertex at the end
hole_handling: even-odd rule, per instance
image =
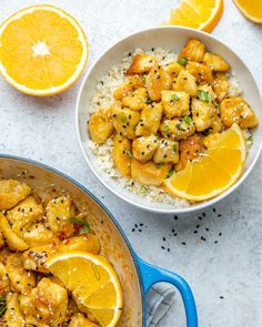
POLYGON ((171 194, 201 202, 223 193, 240 177, 246 159, 246 142, 238 124, 204 140, 208 151, 165 181, 171 194))

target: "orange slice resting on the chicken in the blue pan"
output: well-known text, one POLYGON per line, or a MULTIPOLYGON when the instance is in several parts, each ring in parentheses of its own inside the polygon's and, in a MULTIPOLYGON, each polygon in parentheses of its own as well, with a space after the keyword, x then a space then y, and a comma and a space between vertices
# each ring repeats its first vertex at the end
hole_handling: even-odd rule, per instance
POLYGON ((117 273, 105 257, 69 252, 51 257, 46 267, 63 282, 81 309, 99 326, 117 325, 123 297, 117 273))

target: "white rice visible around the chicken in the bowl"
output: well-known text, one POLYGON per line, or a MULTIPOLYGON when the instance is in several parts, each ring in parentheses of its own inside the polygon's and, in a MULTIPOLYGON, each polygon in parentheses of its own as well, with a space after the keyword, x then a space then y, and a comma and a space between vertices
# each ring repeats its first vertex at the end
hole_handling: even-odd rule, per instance
MULTIPOLYGON (((97 90, 90 103, 90 114, 94 113, 101 108, 107 108, 114 103, 114 91, 119 88, 121 83, 125 82, 127 80, 123 72, 130 67, 132 58, 143 52, 144 51, 142 49, 137 49, 132 53, 125 53, 121 63, 119 65, 113 65, 110 69, 109 73, 98 81, 97 90)), ((178 60, 177 54, 162 48, 152 49, 151 51, 147 51, 145 53, 157 57, 161 65, 178 60)), ((228 78, 231 85, 228 95, 240 95, 242 91, 235 76, 233 74, 229 74, 228 78)), ((248 130, 244 134, 246 140, 251 135, 248 130)), ((108 139, 108 141, 102 145, 98 145, 94 142, 89 141, 85 146, 87 149, 91 149, 92 153, 98 157, 99 167, 104 171, 111 178, 118 181, 118 183, 120 183, 128 191, 143 196, 154 203, 171 204, 174 207, 190 206, 190 203, 188 201, 171 196, 160 187, 145 186, 132 178, 123 177, 113 166, 112 139, 108 139)))

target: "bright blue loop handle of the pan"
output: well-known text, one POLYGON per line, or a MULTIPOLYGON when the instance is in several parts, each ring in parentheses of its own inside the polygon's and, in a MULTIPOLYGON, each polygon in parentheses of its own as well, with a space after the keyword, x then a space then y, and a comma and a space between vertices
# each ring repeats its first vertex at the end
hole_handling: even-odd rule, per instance
MULTIPOLYGON (((179 275, 165 269, 154 267, 142 260, 139 256, 137 256, 137 263, 139 265, 142 277, 142 287, 144 295, 147 295, 149 289, 157 283, 164 282, 172 284, 179 289, 183 299, 187 316, 187 327, 198 327, 198 314, 194 297, 189 284, 179 275)), ((144 316, 147 317, 147 313, 144 314, 144 316)))

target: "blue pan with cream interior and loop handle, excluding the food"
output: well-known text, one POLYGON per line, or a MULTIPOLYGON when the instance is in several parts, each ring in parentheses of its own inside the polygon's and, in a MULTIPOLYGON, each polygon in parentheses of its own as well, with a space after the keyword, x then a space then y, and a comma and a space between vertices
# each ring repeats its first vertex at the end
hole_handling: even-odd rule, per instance
POLYGON ((194 298, 188 283, 174 273, 143 262, 117 219, 84 186, 52 167, 11 155, 0 155, 0 175, 23 181, 36 193, 70 193, 77 206, 88 211, 90 225, 100 238, 102 254, 114 266, 122 285, 124 308, 119 326, 147 326, 147 293, 159 282, 170 283, 179 289, 185 308, 187 326, 198 326, 194 298))

